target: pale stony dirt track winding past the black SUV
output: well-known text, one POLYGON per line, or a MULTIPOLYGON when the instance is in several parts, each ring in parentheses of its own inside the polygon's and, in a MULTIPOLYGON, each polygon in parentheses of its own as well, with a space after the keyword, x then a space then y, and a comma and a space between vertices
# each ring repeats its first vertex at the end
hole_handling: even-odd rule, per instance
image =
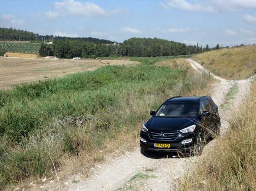
MULTIPOLYGON (((187 59, 186 61, 197 71, 204 71, 204 68, 200 64, 191 59, 187 59)), ((218 79, 218 82, 213 86, 212 98, 218 105, 227 101, 225 100, 225 95, 230 91, 230 88, 236 84, 238 86, 232 100, 229 102, 229 107, 219 107, 219 114, 222 121, 221 131, 223 134, 228 127, 227 120, 231 110, 238 106, 246 97, 253 78, 228 81, 218 76, 214 77, 218 79)), ((84 175, 76 174, 60 183, 46 183, 43 185, 44 188, 42 190, 45 188, 61 191, 172 190, 175 180, 180 176, 184 176, 189 169, 193 168, 194 164, 199 163, 204 155, 214 147, 215 141, 213 140, 206 145, 201 156, 191 158, 174 158, 166 154, 144 156, 136 148, 131 153, 125 152, 124 155, 118 158, 110 158, 106 163, 98 164, 94 167, 93 174, 89 178, 83 178, 84 175)), ((37 188, 35 190, 41 189, 37 188)))

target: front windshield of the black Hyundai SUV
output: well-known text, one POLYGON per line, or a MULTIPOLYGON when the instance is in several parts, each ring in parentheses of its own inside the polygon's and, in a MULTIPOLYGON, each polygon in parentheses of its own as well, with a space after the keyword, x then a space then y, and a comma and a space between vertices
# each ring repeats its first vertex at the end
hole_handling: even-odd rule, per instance
POLYGON ((168 103, 163 104, 157 111, 157 117, 193 117, 198 115, 195 103, 168 103))

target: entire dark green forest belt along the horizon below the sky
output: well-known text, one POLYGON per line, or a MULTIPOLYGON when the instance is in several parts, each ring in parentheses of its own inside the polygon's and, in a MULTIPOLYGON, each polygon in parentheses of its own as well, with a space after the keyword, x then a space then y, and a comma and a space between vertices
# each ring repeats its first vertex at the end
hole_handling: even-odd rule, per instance
MULTIPOLYGON (((98 38, 71 38, 45 35, 17 30, 13 28, 0 28, 0 40, 2 41, 41 41, 40 56, 57 56, 58 58, 96 58, 104 56, 176 56, 196 54, 203 51, 219 49, 219 44, 214 48, 199 46, 187 46, 185 43, 167 41, 159 38, 130 38, 123 43, 98 38), (44 42, 52 41, 53 44, 44 42)), ((3 52, 4 50, 2 50, 3 52)))

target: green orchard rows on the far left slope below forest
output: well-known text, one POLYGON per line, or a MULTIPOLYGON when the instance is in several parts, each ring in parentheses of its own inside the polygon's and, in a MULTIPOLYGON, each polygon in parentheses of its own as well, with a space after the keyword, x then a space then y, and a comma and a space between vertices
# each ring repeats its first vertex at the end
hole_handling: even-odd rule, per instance
POLYGON ((16 53, 39 53, 40 43, 17 43, 0 41, 0 49, 6 52, 16 53))

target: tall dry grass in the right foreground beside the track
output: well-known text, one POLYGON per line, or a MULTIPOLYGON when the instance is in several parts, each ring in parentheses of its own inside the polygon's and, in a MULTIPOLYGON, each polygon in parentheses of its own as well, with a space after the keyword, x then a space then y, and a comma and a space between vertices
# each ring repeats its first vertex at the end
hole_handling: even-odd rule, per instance
POLYGON ((251 95, 230 120, 226 135, 178 191, 256 190, 256 81, 251 95))

